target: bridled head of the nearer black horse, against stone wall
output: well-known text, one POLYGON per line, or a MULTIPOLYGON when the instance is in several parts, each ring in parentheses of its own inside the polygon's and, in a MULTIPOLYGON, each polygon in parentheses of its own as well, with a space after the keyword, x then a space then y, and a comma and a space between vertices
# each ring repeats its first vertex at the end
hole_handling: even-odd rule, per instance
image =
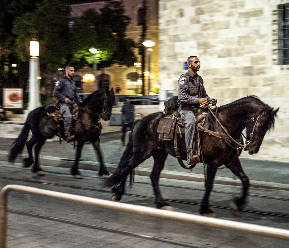
POLYGON ((248 150, 250 155, 259 151, 266 132, 274 127, 275 116, 278 110, 279 108, 276 110, 268 108, 260 113, 249 116, 249 119, 246 121, 248 145, 244 150, 248 150))

